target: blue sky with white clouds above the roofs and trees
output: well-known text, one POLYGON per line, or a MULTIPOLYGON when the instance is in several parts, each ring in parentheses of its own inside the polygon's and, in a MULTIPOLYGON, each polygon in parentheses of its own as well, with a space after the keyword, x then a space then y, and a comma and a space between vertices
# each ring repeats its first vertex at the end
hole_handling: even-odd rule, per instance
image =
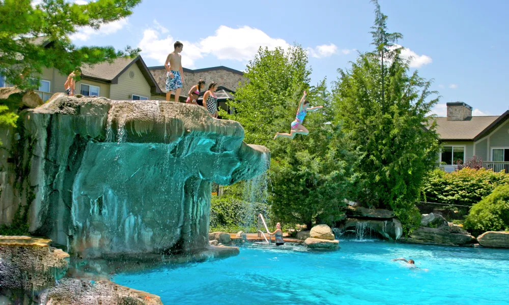
MULTIPOLYGON (((84 0, 75 0, 83 3, 84 0)), ((509 1, 381 0, 390 32, 413 55, 412 65, 445 103, 462 101, 474 115, 499 115, 509 108, 509 1), (404 4, 404 5, 403 5, 404 4)), ((356 1, 163 1, 144 0, 126 20, 99 32, 82 29, 77 45, 139 46, 148 66, 164 64, 176 40, 184 42, 186 68, 227 66, 244 70, 258 46, 309 49, 312 81, 337 77, 357 52, 371 50, 374 6, 356 1), (178 16, 178 17, 176 17, 178 16)))

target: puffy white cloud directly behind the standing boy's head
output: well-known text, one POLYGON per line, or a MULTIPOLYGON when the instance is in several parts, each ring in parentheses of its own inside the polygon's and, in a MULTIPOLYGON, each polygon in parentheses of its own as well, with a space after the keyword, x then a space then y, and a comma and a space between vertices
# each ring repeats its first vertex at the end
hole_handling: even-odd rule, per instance
MULTIPOLYGON (((146 29, 138 47, 142 49, 142 55, 159 60, 163 64, 168 53, 174 50, 175 39, 171 35, 160 38, 159 33, 154 29, 146 29)), ((182 50, 182 66, 194 67, 194 60, 203 58, 200 47, 188 41, 181 41, 184 44, 182 50)))

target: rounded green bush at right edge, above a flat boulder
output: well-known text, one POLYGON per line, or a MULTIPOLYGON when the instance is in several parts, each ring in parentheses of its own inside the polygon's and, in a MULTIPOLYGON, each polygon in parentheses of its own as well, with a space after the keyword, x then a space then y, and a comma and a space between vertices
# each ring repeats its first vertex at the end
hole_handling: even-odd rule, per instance
POLYGON ((475 236, 486 231, 509 229, 509 185, 497 187, 475 204, 465 219, 464 227, 475 236))

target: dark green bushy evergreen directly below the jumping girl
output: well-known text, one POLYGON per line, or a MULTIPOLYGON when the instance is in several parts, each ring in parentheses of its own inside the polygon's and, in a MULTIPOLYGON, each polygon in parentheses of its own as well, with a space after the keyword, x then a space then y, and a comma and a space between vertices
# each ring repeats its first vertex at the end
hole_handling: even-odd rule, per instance
MULTIPOLYGON (((277 221, 289 224, 333 224, 341 219, 345 199, 355 198, 361 154, 344 137, 340 125, 330 124, 333 112, 325 80, 314 88, 313 106, 324 105, 321 112, 306 116, 309 135, 293 140, 278 139, 269 144, 272 213, 277 221)), ((294 102, 287 108, 293 110, 294 102)), ((293 117, 284 126, 289 129, 293 117)))

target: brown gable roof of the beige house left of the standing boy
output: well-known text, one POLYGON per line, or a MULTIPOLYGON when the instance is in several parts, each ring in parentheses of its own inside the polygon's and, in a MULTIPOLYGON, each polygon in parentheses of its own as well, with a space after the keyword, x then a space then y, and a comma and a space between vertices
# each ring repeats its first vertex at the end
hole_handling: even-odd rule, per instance
POLYGON ((139 55, 135 58, 120 57, 112 63, 104 62, 93 66, 84 65, 81 67, 81 77, 101 83, 117 84, 120 75, 133 64, 136 64, 139 71, 142 72, 143 77, 150 86, 150 92, 153 94, 161 93, 161 89, 157 85, 152 73, 150 73, 149 68, 145 65, 142 56, 139 55))

